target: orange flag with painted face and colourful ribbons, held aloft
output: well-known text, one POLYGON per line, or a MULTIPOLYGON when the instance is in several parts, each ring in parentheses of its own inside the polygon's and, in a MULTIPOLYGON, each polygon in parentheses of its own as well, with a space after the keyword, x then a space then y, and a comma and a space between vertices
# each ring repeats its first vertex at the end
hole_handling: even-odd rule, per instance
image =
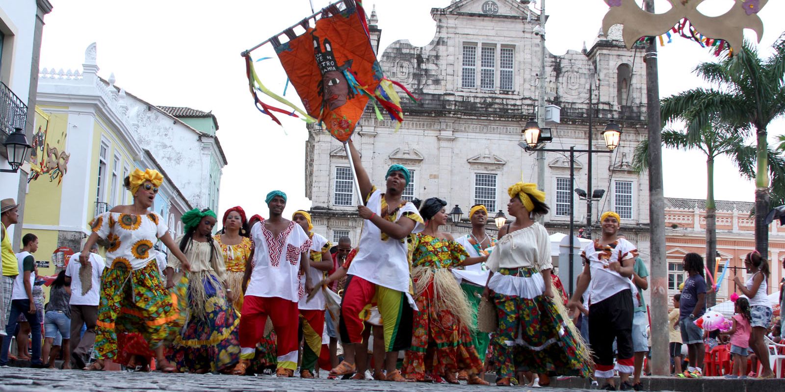
MULTIPOLYGON (((370 101, 379 120, 383 120, 382 113, 386 113, 400 126, 403 110, 395 86, 415 99, 403 85, 392 82, 382 73, 371 46, 362 3, 341 0, 322 9, 316 22, 313 25, 311 22, 303 20, 298 25, 305 31, 301 34, 295 34, 293 27, 269 41, 300 96, 308 114, 306 118, 315 119, 332 136, 345 142, 370 101), (281 42, 283 36, 288 38, 287 42, 281 42)), ((253 67, 250 56, 246 56, 246 64, 253 67)), ((256 74, 251 70, 252 93, 257 89, 296 109, 283 98, 259 89, 254 85, 254 78, 257 78, 256 74)), ((255 93, 254 98, 257 99, 255 93)), ((286 113, 262 103, 260 110, 265 112, 263 108, 286 113)), ((265 114, 273 117, 269 111, 265 114)))

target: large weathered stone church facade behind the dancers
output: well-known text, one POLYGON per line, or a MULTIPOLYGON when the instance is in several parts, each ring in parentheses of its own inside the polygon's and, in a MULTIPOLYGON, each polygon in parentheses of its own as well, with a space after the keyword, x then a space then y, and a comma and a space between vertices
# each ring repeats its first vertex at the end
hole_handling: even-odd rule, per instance
MULTIPOLYGON (((547 147, 586 149, 590 85, 593 84, 593 149, 607 150, 600 136, 610 120, 623 127, 620 147, 612 154, 593 154, 593 188, 604 196, 597 212, 612 209, 622 216, 627 238, 648 256, 648 176, 630 167, 633 149, 646 136, 643 51, 629 50, 616 28, 599 35, 590 48, 546 55, 545 78, 539 76, 542 38, 535 34, 541 16, 528 1, 460 0, 431 10, 436 36, 424 47, 393 42, 378 58, 385 75, 402 82, 420 98, 404 103, 405 121, 394 124, 367 115, 354 143, 371 180, 384 186, 391 164, 406 165, 412 180, 404 197, 445 198, 448 209, 464 212, 483 203, 491 215, 506 212, 507 188, 517 181, 536 182, 535 154, 524 151, 521 129, 535 117, 538 85, 546 83, 546 103, 560 107, 560 123, 551 125, 547 147)), ((383 16, 382 16, 383 17, 383 16)), ((378 16, 369 18, 374 45, 382 31, 378 16)), ((538 29, 539 31, 539 29, 538 29)), ((352 172, 341 143, 321 129, 310 129, 306 143, 306 196, 311 198, 317 232, 335 241, 349 235, 357 241, 352 172)), ((551 212, 550 232, 567 232, 570 194, 586 189, 586 154, 575 159, 569 176, 568 155, 546 153, 545 191, 551 212)), ((586 221, 586 201, 575 196, 575 223, 586 221)), ((494 227, 495 229, 495 227, 494 227)), ((465 233, 469 224, 447 228, 465 233)), ((577 230, 577 228, 576 228, 577 230)), ((648 261, 648 260, 647 260, 648 261)))

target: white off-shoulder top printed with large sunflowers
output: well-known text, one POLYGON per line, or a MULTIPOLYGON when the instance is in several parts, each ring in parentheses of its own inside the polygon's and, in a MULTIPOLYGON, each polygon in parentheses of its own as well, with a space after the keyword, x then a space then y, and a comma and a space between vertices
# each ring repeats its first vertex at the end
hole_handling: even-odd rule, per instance
POLYGON ((90 227, 108 243, 107 267, 126 270, 138 270, 155 259, 158 252, 153 251, 152 246, 169 231, 155 212, 147 215, 104 212, 90 223, 90 227))

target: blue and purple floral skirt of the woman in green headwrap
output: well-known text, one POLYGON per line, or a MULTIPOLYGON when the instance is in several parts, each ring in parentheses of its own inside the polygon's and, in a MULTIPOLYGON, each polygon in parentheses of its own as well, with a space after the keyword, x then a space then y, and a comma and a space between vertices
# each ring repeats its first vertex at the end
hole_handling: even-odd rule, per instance
POLYGON ((179 372, 221 372, 234 366, 240 358, 239 314, 226 299, 217 278, 191 281, 188 306, 204 307, 204 318, 188 318, 181 335, 174 339, 168 358, 179 372), (193 285, 203 285, 205 303, 193 300, 193 285))

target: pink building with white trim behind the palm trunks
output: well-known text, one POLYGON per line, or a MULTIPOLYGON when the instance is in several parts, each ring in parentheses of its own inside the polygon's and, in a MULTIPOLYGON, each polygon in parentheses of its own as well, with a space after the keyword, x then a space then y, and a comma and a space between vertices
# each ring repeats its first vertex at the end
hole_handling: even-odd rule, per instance
MULTIPOLYGON (((719 274, 729 260, 728 274, 717 291, 717 303, 728 299, 736 290, 733 277, 747 280, 744 269, 744 256, 755 249, 754 218, 750 211, 754 203, 744 201, 717 201, 717 252, 719 274)), ((665 207, 666 255, 668 260, 668 293, 674 295, 678 286, 685 280, 681 260, 685 254, 696 252, 706 255, 706 201, 666 198, 665 207)), ((716 256, 716 255, 715 255, 716 256)), ((776 292, 780 281, 785 277, 783 271, 785 257, 785 227, 775 220, 769 226, 769 294, 776 292)), ((711 271, 714 275, 714 271, 711 271)), ((715 279, 717 277, 714 277, 715 279)), ((739 293, 739 295, 741 295, 739 293)))

